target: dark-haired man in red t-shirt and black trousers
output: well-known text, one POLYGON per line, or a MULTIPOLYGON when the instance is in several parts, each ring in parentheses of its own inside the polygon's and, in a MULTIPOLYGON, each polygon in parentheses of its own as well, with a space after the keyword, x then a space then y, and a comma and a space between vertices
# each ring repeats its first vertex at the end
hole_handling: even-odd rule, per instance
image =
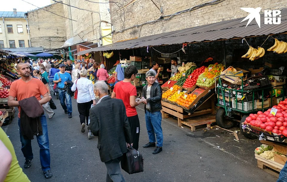
POLYGON ((131 84, 135 80, 138 70, 135 66, 129 66, 125 70, 125 79, 117 82, 112 93, 112 98, 123 100, 126 107, 126 116, 129 119, 129 126, 132 131, 133 148, 138 150, 138 140, 140 138, 140 120, 138 113, 135 109, 136 106, 141 104, 141 101, 136 102, 137 89, 131 84))

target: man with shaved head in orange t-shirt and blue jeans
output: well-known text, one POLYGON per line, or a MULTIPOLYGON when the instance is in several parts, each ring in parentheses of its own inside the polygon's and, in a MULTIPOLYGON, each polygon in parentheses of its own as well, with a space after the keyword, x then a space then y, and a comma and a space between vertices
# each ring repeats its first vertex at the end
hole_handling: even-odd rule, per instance
MULTIPOLYGON (((21 134, 20 129, 20 110, 19 101, 35 96, 41 105, 46 104, 50 101, 48 95, 48 89, 43 84, 43 82, 37 78, 32 78, 30 76, 29 66, 25 63, 19 63, 16 66, 21 79, 12 82, 10 86, 10 92, 8 96, 8 106, 10 107, 18 107, 18 125, 20 131, 20 141, 22 143, 22 152, 25 157, 24 168, 28 169, 31 166, 31 160, 33 159, 33 152, 31 146, 31 140, 25 139, 21 134), (41 95, 43 98, 41 99, 41 95), (17 98, 17 101, 15 100, 17 98)), ((50 148, 49 148, 49 138, 48 138, 48 128, 47 128, 47 120, 45 114, 40 116, 41 124, 42 124, 42 135, 37 135, 37 142, 40 147, 40 162, 42 166, 42 170, 44 171, 45 178, 51 178, 51 168, 50 168, 50 148)))

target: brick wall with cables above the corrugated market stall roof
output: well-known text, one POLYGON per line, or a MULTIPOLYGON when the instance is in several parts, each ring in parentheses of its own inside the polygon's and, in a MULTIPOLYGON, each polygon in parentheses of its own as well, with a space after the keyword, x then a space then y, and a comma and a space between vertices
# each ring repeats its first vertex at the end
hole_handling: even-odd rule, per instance
MULTIPOLYGON (((189 9, 195 5, 202 4, 205 1, 186 1, 186 0, 154 0, 158 7, 162 6, 163 14, 155 7, 152 1, 134 0, 132 4, 124 8, 125 28, 142 24, 147 21, 158 19, 160 16, 170 15, 178 11, 189 9)), ((118 0, 123 6, 126 6, 131 0, 118 0)), ((230 20, 247 16, 247 12, 239 9, 239 7, 262 7, 262 10, 276 10, 287 7, 287 0, 282 1, 241 1, 226 0, 219 4, 204 6, 190 13, 182 13, 174 16, 169 21, 159 21, 152 25, 144 25, 126 30, 122 33, 115 33, 112 37, 113 42, 126 40, 135 37, 149 36, 159 33, 166 33, 184 28, 196 27, 204 24, 211 24, 220 21, 230 20)), ((115 25, 116 32, 123 30, 123 10, 115 3, 110 3, 110 13, 112 24, 115 25)))

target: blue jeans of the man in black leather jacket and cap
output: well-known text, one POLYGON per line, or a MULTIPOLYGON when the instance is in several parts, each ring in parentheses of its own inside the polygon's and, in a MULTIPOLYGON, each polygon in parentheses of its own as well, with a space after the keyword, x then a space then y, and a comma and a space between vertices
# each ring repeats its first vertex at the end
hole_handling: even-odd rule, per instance
POLYGON ((161 128, 161 119, 162 119, 161 112, 146 111, 145 117, 146 117, 147 134, 149 135, 149 142, 154 143, 156 135, 157 146, 162 146, 164 138, 162 135, 162 128, 161 128))

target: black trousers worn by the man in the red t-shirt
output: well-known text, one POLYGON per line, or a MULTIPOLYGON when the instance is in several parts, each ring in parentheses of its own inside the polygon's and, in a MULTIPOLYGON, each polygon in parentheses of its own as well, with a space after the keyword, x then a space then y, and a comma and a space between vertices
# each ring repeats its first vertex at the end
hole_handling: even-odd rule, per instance
POLYGON ((136 150, 138 150, 138 141, 140 139, 140 120, 138 119, 138 115, 128 117, 129 127, 132 132, 132 146, 136 150))

